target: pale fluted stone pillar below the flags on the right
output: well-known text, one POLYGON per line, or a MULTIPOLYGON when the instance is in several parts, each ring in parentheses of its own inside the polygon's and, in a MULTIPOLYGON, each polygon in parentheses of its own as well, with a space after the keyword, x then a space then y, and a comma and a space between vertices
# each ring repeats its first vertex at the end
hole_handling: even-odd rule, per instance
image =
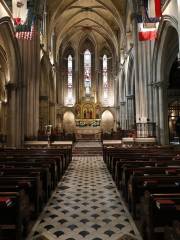
POLYGON ((138 40, 137 22, 133 20, 133 35, 135 45, 135 104, 136 122, 152 121, 151 82, 153 41, 138 40))

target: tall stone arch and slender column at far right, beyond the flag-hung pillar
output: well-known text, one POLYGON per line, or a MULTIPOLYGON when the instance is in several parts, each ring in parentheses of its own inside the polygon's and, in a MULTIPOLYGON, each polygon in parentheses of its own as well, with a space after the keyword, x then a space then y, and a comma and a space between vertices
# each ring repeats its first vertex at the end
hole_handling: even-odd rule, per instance
POLYGON ((172 65, 178 54, 177 22, 164 17, 159 28, 159 39, 155 44, 153 61, 153 111, 156 135, 161 144, 169 143, 168 86, 172 65))

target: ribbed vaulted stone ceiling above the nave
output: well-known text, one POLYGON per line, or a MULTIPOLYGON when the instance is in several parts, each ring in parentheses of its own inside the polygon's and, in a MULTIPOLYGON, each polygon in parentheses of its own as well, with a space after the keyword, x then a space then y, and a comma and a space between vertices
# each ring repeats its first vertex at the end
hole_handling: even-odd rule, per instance
POLYGON ((83 35, 101 38, 118 52, 124 36, 127 0, 47 0, 49 40, 54 31, 57 50, 83 35))

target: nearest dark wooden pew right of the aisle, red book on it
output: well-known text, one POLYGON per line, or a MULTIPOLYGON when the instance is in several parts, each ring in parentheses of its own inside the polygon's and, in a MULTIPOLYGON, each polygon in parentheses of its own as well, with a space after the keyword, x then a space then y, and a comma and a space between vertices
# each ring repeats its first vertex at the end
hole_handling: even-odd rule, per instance
POLYGON ((148 240, 164 239, 165 226, 180 221, 180 193, 160 193, 146 196, 144 209, 144 236, 148 240))

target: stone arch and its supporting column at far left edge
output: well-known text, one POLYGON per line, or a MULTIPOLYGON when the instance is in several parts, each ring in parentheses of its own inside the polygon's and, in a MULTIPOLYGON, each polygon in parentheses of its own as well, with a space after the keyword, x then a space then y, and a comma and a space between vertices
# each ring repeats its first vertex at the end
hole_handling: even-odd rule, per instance
POLYGON ((3 128, 7 129, 4 129, 7 135, 7 145, 20 146, 24 140, 24 125, 22 124, 24 101, 22 98, 21 57, 17 40, 14 37, 12 22, 9 17, 0 19, 0 46, 5 53, 3 55, 6 66, 3 67, 1 65, 1 67, 3 67, 1 72, 3 72, 5 78, 4 91, 7 92, 7 97, 3 100, 3 102, 6 102, 7 116, 5 118, 7 119, 7 125, 4 125, 3 128))

